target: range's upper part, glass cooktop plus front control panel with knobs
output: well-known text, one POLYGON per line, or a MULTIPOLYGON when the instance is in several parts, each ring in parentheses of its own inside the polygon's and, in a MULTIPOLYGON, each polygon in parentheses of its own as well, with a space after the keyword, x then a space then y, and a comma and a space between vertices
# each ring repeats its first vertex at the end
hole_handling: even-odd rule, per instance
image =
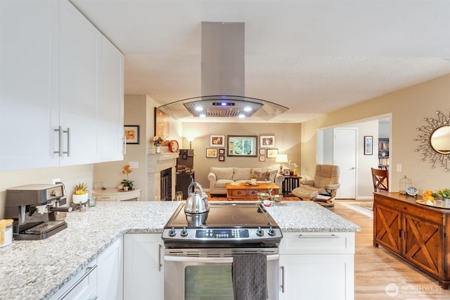
POLYGON ((282 237, 259 202, 210 203, 202 214, 187 214, 181 204, 162 233, 166 248, 278 247, 282 237))

